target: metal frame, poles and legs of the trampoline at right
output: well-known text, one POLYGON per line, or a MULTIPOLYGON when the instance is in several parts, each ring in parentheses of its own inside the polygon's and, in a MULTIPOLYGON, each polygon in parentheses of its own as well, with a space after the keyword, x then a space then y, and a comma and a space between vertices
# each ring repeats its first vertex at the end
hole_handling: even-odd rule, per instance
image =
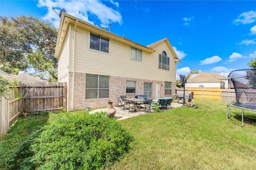
MULTIPOLYGON (((244 70, 255 70, 255 69, 244 69, 244 70)), ((239 106, 235 106, 233 104, 230 104, 229 103, 229 99, 230 99, 230 86, 231 86, 231 78, 232 78, 232 75, 234 74, 235 71, 243 71, 243 70, 234 70, 232 71, 230 74, 230 78, 229 78, 229 84, 228 84, 228 104, 227 104, 227 120, 228 120, 228 108, 229 108, 229 115, 231 116, 231 109, 230 107, 233 107, 233 108, 240 108, 242 110, 242 127, 244 127, 244 110, 250 110, 250 111, 254 111, 256 112, 255 109, 251 109, 251 108, 244 108, 244 107, 239 107, 239 106)), ((228 75, 229 76, 229 75, 228 75)), ((235 89, 236 91, 236 89, 235 89)))

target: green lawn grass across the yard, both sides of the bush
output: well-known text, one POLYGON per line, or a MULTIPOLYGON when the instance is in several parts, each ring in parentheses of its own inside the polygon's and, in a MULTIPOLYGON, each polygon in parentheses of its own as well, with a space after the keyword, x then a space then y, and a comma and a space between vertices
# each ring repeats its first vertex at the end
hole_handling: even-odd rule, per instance
MULTIPOLYGON (((134 136, 134 141, 132 150, 109 169, 255 169, 256 112, 244 110, 242 128, 240 109, 231 108, 231 117, 226 120, 227 102, 192 102, 196 103, 197 109, 172 108, 118 121, 134 136)), ((34 128, 51 121, 54 115, 34 116, 35 120, 20 118, 0 141, 0 155, 12 154, 18 141, 26 138, 34 128), (9 142, 13 148, 8 146, 9 142)), ((2 158, 4 156, 0 156, 2 158)))

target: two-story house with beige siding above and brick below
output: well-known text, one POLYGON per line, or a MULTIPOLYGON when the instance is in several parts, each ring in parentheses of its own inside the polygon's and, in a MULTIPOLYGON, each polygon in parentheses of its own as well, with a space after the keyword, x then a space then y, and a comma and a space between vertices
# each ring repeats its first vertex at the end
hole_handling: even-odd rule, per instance
POLYGON ((143 46, 62 13, 56 42, 58 82, 67 82, 67 110, 106 108, 107 100, 175 92, 176 62, 168 38, 143 46))

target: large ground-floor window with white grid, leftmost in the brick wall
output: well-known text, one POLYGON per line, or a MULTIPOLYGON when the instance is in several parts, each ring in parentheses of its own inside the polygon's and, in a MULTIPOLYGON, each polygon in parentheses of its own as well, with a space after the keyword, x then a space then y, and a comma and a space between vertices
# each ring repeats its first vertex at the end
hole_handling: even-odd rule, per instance
POLYGON ((109 76, 86 74, 85 98, 109 98, 109 76))

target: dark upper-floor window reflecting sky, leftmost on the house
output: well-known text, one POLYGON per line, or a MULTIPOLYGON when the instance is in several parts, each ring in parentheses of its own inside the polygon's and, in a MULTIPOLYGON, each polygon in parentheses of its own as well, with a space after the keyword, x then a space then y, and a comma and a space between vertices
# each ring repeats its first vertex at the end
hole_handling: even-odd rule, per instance
POLYGON ((90 49, 109 53, 109 38, 91 32, 90 49))

